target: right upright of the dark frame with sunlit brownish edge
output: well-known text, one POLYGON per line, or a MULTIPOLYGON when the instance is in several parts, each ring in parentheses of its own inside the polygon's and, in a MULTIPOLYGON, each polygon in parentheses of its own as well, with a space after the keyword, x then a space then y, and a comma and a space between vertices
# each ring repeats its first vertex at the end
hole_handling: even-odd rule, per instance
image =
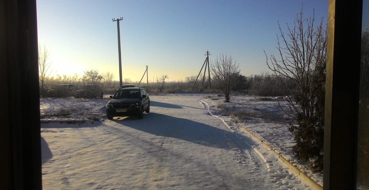
POLYGON ((362 1, 329 0, 324 189, 356 189, 362 1))

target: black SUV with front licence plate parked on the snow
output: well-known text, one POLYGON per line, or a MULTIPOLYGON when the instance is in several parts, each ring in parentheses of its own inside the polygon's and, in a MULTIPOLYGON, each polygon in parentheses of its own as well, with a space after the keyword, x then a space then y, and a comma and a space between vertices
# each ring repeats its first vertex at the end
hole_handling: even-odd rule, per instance
POLYGON ((106 104, 106 116, 138 116, 144 117, 144 111, 150 112, 150 98, 144 88, 122 88, 117 90, 106 104))

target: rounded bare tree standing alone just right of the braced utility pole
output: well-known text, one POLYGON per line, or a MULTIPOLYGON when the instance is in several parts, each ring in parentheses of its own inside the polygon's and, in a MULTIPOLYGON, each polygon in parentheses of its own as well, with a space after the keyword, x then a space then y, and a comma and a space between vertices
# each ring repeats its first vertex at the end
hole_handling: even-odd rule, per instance
POLYGON ((220 54, 215 61, 211 61, 211 73, 225 96, 225 102, 230 102, 230 93, 240 71, 238 68, 239 64, 233 62, 232 56, 228 57, 227 54, 220 54))

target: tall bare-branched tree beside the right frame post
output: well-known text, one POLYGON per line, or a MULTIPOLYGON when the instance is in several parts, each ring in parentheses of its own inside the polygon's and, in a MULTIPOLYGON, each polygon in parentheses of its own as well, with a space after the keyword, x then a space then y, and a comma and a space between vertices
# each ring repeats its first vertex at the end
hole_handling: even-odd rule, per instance
POLYGON ((291 122, 287 124, 289 131, 295 136, 295 155, 299 159, 309 161, 314 168, 321 169, 327 29, 323 26, 323 18, 317 27, 314 22, 314 14, 312 18, 303 19, 302 8, 293 27, 290 28, 287 24, 287 35, 284 35, 278 22, 279 37, 282 39, 281 45, 277 37, 280 58, 271 55, 268 59, 264 53, 268 67, 279 80, 279 87, 286 95, 294 96, 294 99, 287 98, 288 106, 282 109, 297 122, 297 125, 291 122), (296 82, 299 89, 297 92, 294 93, 290 88, 288 80, 296 82))

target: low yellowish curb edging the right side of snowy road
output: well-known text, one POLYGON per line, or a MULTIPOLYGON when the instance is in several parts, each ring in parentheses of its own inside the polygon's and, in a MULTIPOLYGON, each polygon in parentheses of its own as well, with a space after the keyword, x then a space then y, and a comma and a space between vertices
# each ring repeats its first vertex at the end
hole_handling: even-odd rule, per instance
MULTIPOLYGON (((206 104, 208 106, 208 112, 212 115, 215 116, 219 119, 221 119, 223 121, 223 123, 225 123, 227 126, 228 124, 224 121, 224 119, 222 119, 221 117, 218 117, 216 115, 213 115, 210 112, 210 106, 208 105, 208 103, 202 101, 201 99, 199 99, 201 102, 203 102, 204 104, 206 104)), ((241 126, 242 129, 246 130, 252 137, 256 138, 256 140, 258 140, 261 144, 263 144, 266 148, 268 148, 269 150, 273 151, 278 158, 280 158, 280 160, 285 163, 287 166, 289 166, 290 169, 293 170, 293 172, 295 172, 298 176, 300 176, 301 178, 305 179, 308 183, 310 183, 313 187, 315 187, 315 189, 318 190, 323 190, 323 187, 318 184, 317 182, 315 182, 313 179, 311 179, 311 177, 309 177, 306 173, 304 173, 303 171, 301 171, 299 168, 297 168, 296 166, 294 166, 291 162, 289 162, 286 158, 283 157, 283 155, 279 154, 277 151, 275 151, 275 149, 273 149, 272 147, 270 147, 268 144, 264 143, 263 140, 261 140, 258 136, 256 136, 254 133, 252 133, 251 131, 249 131, 248 129, 246 129, 245 126, 243 126, 242 124, 238 124, 239 126, 241 126)))

